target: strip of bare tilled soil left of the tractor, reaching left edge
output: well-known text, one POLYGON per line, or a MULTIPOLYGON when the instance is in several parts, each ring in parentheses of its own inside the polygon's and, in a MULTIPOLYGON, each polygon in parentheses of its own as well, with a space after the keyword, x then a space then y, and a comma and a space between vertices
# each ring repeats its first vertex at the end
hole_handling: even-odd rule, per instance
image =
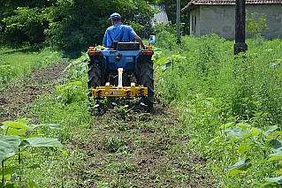
POLYGON ((34 103, 38 95, 50 93, 54 86, 64 78, 67 64, 56 64, 32 71, 24 78, 11 81, 0 90, 0 123, 25 117, 28 106, 34 103))

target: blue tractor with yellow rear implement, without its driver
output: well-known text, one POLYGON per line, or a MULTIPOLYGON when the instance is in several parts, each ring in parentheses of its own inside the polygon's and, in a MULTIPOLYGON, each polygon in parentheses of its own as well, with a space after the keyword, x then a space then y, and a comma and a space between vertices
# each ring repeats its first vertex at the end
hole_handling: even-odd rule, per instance
POLYGON ((119 103, 129 109, 153 110, 153 54, 150 46, 141 50, 139 42, 114 41, 112 49, 89 47, 88 95, 95 116, 119 103))

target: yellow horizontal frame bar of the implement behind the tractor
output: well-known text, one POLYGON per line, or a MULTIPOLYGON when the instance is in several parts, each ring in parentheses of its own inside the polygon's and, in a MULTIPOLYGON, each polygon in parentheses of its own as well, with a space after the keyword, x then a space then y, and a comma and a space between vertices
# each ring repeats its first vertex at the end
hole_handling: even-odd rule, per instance
POLYGON ((106 83, 106 86, 97 86, 92 90, 92 96, 100 95, 102 97, 136 97, 137 95, 148 95, 148 87, 135 86, 135 83, 131 83, 131 86, 111 86, 110 82, 106 83))

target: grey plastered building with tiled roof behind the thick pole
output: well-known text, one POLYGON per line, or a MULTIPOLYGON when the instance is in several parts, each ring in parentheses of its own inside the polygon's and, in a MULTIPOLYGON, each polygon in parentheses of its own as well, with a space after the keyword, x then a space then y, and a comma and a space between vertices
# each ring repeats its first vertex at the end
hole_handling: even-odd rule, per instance
MULTIPOLYGON (((236 0, 192 0, 181 11, 189 14, 190 34, 215 33, 226 39, 235 38, 236 0)), ((266 39, 282 37, 282 0, 246 0, 248 13, 265 13, 266 39)), ((249 37, 249 34, 246 34, 249 37)))

